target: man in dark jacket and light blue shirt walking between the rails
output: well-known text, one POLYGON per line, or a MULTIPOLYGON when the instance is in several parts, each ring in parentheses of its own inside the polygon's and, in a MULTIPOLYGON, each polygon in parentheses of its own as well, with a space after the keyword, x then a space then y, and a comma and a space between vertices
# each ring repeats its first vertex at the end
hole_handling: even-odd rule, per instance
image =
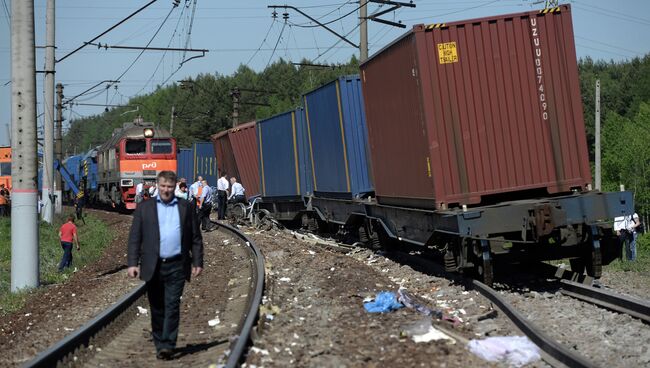
POLYGON ((174 196, 176 173, 158 174, 158 196, 140 203, 129 233, 127 273, 146 282, 158 359, 171 359, 185 281, 203 271, 203 238, 194 205, 174 196))

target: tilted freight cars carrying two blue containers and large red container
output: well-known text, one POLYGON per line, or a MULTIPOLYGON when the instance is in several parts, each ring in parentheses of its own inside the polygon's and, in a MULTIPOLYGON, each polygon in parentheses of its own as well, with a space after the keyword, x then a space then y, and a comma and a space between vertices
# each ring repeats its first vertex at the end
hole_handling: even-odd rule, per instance
POLYGON ((599 277, 633 198, 591 188, 573 39, 568 5, 414 26, 258 122, 260 206, 487 282, 495 261, 560 258, 599 277))

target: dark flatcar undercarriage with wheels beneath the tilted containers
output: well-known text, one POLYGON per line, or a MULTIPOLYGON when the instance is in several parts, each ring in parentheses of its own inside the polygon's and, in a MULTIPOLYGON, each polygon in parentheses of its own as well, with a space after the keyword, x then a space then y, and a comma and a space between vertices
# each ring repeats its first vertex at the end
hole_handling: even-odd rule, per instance
POLYGON ((399 242, 438 251, 448 271, 474 273, 487 283, 495 263, 570 259, 573 271, 598 278, 620 256, 611 220, 633 211, 630 192, 587 192, 498 205, 431 211, 386 206, 372 199, 268 199, 260 207, 297 226, 335 228, 340 238, 369 247, 399 242))

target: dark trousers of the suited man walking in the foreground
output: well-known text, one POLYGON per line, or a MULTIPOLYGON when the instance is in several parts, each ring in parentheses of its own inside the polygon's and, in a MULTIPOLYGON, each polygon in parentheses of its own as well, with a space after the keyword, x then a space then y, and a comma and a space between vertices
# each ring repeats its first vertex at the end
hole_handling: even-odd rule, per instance
POLYGON ((176 347, 184 286, 185 274, 180 258, 172 262, 160 260, 153 278, 147 282, 147 296, 151 307, 151 332, 157 351, 176 347))

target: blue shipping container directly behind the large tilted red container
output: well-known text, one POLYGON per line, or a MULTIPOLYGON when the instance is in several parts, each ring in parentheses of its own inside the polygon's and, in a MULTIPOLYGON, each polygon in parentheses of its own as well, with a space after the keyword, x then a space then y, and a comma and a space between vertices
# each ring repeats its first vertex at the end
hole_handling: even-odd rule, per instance
POLYGON ((314 192, 335 197, 372 192, 359 76, 340 77, 305 94, 304 102, 314 192))

